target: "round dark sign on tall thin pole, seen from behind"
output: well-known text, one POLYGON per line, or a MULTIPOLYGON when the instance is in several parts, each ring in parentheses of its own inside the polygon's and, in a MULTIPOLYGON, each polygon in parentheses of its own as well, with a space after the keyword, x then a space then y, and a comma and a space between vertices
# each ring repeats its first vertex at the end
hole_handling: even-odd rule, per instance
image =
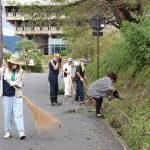
POLYGON ((105 27, 105 19, 99 15, 92 17, 90 22, 93 29, 93 36, 97 36, 97 79, 99 79, 99 36, 103 36, 103 28, 105 27))

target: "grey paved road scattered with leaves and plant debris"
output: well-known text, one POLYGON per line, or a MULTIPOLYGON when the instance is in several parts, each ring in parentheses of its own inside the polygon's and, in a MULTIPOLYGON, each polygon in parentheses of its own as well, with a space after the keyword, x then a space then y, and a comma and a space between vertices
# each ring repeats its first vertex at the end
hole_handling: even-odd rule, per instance
POLYGON ((35 130, 30 110, 24 104, 26 140, 19 140, 13 124, 13 137, 3 139, 3 112, 0 105, 0 150, 123 150, 102 119, 96 119, 94 112, 87 112, 89 106, 77 105, 65 100, 62 106, 54 107, 49 101, 47 74, 26 74, 24 95, 35 104, 53 113, 62 124, 61 128, 39 135, 35 130), (80 110, 66 113, 66 110, 80 110))

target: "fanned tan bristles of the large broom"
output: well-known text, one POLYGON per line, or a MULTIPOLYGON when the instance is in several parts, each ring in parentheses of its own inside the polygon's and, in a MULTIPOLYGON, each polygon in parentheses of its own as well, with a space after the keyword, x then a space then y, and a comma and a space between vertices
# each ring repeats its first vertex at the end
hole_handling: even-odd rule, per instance
POLYGON ((34 123, 38 132, 41 133, 44 131, 50 131, 56 127, 61 127, 59 121, 52 114, 36 106, 26 96, 23 96, 23 99, 32 112, 34 123))

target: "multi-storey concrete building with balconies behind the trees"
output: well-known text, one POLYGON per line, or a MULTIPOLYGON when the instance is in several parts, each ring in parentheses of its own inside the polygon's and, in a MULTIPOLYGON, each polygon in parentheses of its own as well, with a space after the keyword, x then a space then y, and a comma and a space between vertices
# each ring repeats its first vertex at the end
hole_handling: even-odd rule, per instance
MULTIPOLYGON (((28 6, 30 7, 30 6, 28 6)), ((44 55, 59 53, 67 50, 67 45, 62 39, 63 31, 60 27, 49 24, 30 24, 27 17, 22 15, 19 8, 14 5, 6 5, 6 20, 16 28, 16 35, 33 40, 44 55)))

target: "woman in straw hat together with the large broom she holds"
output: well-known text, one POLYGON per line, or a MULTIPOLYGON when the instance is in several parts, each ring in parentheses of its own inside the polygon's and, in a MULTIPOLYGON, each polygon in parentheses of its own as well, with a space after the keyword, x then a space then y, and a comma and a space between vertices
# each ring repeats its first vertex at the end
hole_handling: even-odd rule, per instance
POLYGON ((20 67, 18 55, 13 54, 8 59, 8 65, 0 68, 0 96, 2 96, 4 110, 4 139, 9 139, 12 133, 12 117, 17 126, 20 139, 24 139, 23 101, 30 109, 36 129, 39 133, 61 127, 59 121, 49 112, 35 105, 28 97, 24 96, 21 88, 24 82, 24 71, 20 67))

